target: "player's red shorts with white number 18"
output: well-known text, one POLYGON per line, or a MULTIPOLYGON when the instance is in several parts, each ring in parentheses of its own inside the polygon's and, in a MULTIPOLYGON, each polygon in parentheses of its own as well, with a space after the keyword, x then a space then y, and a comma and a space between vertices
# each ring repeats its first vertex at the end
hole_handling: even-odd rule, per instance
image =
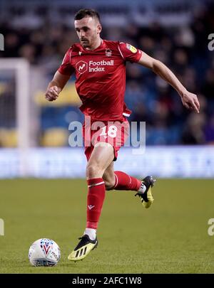
POLYGON ((113 146, 113 161, 116 161, 118 150, 125 144, 128 135, 129 123, 126 117, 123 117, 123 121, 100 121, 85 117, 83 141, 87 161, 90 159, 94 146, 99 142, 105 142, 113 146))

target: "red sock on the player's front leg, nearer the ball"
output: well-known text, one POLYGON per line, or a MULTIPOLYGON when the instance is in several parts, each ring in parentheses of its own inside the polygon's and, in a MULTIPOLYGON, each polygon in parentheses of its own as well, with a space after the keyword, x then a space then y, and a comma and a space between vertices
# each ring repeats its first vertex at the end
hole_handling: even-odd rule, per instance
POLYGON ((101 215, 106 187, 103 178, 91 178, 88 182, 86 228, 96 229, 101 215))

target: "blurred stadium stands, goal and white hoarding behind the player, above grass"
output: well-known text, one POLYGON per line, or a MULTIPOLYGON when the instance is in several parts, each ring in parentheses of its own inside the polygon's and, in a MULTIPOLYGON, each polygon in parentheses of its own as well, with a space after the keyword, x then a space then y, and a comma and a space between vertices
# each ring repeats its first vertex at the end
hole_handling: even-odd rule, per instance
POLYGON ((214 52, 208 35, 214 8, 212 1, 197 0, 1 0, 0 177, 84 176, 82 149, 68 146, 69 123, 83 121, 74 78, 56 102, 47 102, 44 92, 78 41, 73 15, 88 6, 101 14, 102 38, 129 42, 163 61, 200 100, 200 114, 185 110, 172 87, 128 63, 126 103, 131 121, 146 121, 149 153, 138 157, 121 149, 116 165, 132 174, 213 177, 214 52))

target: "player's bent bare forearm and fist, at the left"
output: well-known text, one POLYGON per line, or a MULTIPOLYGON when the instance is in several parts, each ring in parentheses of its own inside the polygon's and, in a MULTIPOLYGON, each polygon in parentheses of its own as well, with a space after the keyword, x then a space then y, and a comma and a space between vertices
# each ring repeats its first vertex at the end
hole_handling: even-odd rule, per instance
POLYGON ((49 83, 49 86, 46 90, 46 100, 54 101, 57 99, 61 90, 68 82, 70 75, 64 75, 56 71, 53 80, 49 83))

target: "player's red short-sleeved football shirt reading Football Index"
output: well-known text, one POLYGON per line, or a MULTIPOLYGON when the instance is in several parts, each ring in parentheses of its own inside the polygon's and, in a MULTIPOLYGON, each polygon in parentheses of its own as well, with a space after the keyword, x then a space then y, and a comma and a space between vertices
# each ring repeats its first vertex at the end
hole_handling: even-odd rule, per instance
POLYGON ((58 72, 76 73, 76 91, 81 98, 80 110, 98 120, 122 120, 129 116, 124 102, 126 61, 138 62, 142 51, 128 43, 102 40, 95 50, 79 43, 66 52, 58 72))

